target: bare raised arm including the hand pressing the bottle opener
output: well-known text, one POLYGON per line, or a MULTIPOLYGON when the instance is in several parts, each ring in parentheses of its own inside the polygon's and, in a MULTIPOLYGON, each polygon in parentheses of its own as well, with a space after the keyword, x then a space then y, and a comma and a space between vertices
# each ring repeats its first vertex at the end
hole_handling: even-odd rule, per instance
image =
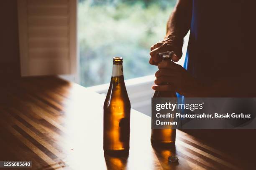
POLYGON ((151 46, 151 58, 149 63, 157 65, 161 58, 158 53, 173 50, 175 55, 172 58, 177 62, 182 56, 183 38, 190 29, 192 17, 192 0, 177 0, 172 14, 169 17, 164 40, 151 46))

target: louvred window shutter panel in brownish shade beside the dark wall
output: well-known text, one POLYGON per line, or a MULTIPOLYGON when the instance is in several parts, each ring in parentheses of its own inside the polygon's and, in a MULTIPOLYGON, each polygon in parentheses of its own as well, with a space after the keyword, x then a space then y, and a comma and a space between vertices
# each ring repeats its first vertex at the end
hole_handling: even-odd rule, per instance
POLYGON ((18 0, 21 76, 75 74, 77 0, 18 0))

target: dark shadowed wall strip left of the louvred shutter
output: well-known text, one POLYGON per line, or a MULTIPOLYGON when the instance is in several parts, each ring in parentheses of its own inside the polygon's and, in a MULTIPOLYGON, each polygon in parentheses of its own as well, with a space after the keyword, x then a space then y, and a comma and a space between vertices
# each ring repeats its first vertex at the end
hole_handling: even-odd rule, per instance
POLYGON ((19 77, 17 0, 0 1, 0 76, 19 77))

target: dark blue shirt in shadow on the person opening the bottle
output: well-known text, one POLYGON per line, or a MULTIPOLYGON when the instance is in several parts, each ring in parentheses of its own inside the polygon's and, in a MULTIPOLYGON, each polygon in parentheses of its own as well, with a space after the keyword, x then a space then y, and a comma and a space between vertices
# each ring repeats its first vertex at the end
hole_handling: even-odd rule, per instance
POLYGON ((204 84, 256 73, 255 11, 253 0, 193 0, 184 67, 204 84))

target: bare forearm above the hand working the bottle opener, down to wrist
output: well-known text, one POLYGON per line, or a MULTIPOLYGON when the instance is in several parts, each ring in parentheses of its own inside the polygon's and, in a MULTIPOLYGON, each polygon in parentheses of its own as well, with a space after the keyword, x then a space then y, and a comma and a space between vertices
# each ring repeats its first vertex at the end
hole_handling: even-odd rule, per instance
POLYGON ((192 0, 178 0, 167 22, 166 37, 183 41, 190 29, 192 18, 192 0))

